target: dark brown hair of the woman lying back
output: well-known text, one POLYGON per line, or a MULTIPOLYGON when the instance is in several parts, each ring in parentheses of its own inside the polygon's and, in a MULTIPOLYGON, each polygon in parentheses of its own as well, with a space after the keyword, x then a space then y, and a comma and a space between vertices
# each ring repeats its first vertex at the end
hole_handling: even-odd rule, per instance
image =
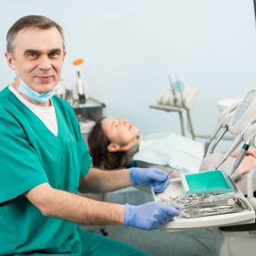
POLYGON ((88 146, 93 158, 93 166, 104 170, 127 167, 132 162, 133 155, 137 152, 138 144, 128 151, 110 152, 108 146, 111 141, 104 134, 102 119, 95 123, 88 137, 88 146))

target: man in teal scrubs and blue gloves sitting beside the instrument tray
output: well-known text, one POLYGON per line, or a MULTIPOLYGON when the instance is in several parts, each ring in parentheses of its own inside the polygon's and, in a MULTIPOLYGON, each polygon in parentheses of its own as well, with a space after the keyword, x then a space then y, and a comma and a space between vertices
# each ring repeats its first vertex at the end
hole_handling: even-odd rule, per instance
POLYGON ((0 255, 148 255, 80 229, 126 225, 157 229, 175 207, 99 202, 77 192, 107 192, 140 184, 162 192, 158 169, 104 172, 92 168, 74 110, 54 96, 66 56, 62 28, 30 15, 7 33, 5 57, 16 79, 0 93, 0 255))

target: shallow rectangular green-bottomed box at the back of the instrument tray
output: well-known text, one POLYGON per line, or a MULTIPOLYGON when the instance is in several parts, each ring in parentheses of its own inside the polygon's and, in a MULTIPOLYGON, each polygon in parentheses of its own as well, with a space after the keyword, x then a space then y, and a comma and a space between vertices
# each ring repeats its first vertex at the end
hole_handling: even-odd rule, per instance
POLYGON ((234 185, 223 170, 181 173, 181 183, 187 195, 234 192, 234 185))

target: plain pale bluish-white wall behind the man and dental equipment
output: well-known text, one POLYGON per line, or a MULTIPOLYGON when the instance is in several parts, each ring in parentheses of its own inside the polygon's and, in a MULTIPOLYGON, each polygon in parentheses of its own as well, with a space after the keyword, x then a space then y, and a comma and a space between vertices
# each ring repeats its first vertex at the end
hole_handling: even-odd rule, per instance
POLYGON ((167 73, 199 88, 192 112, 197 132, 216 124, 216 102, 256 85, 252 0, 5 0, 0 2, 0 89, 13 79, 5 35, 18 18, 43 14, 66 32, 63 78, 75 83, 82 57, 86 91, 107 114, 128 118, 144 134, 179 130, 174 114, 148 105, 168 86, 167 73))

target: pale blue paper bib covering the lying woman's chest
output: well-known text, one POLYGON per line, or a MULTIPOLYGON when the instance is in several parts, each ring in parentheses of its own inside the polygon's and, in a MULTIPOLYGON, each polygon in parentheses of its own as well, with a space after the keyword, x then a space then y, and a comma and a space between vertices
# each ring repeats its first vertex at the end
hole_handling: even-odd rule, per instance
POLYGON ((133 160, 177 166, 182 172, 199 172, 203 154, 203 145, 199 142, 164 132, 143 138, 133 160))

